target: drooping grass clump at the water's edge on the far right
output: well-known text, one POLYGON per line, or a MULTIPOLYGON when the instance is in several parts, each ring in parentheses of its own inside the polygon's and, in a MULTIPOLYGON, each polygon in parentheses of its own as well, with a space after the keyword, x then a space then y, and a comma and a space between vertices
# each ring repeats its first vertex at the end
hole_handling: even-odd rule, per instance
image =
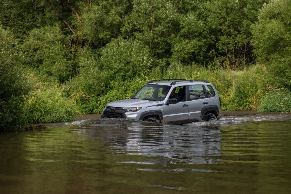
POLYGON ((291 91, 282 86, 267 86, 267 94, 259 104, 258 112, 290 112, 291 91))

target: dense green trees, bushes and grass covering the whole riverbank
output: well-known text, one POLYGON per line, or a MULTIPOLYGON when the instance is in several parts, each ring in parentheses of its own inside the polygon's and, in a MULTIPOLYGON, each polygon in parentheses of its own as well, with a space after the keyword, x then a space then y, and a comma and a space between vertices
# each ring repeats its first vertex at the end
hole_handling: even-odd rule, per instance
POLYGON ((0 131, 101 113, 169 78, 210 81, 222 111, 291 111, 289 0, 0 0, 0 9, 0 131))

